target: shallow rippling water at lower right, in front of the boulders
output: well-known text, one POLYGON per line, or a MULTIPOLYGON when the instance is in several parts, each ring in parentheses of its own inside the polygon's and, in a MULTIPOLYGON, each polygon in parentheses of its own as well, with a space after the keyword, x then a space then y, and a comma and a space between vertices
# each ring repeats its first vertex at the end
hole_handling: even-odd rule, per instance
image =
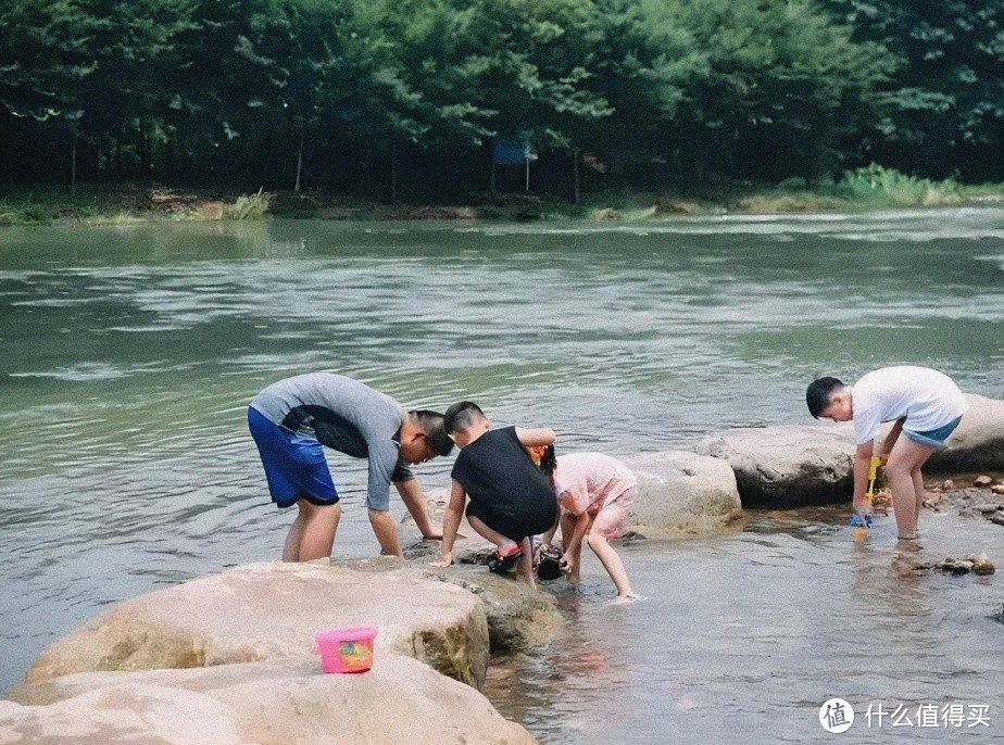
MULTIPOLYGON (((489 672, 487 695, 542 743, 815 742, 832 697, 858 719, 844 737, 891 742, 868 705, 990 707, 976 729, 896 728, 904 742, 986 742, 1004 727, 1004 629, 993 578, 917 573, 894 545, 892 518, 867 544, 846 510, 755 516, 742 534, 625 547, 647 599, 612 605, 593 559, 581 594, 552 583, 563 636, 489 672), (994 717, 996 719, 994 719, 994 717)), ((995 526, 925 514, 919 554, 1000 553, 995 526)))

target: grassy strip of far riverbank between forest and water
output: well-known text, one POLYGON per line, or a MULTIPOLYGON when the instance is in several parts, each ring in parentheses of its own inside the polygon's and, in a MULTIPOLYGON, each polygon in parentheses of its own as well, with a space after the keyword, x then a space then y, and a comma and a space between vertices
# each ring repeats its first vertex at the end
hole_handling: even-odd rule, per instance
POLYGON ((870 166, 836 184, 788 179, 777 186, 729 185, 690 194, 617 192, 572 201, 531 194, 472 194, 454 204, 384 204, 318 192, 238 193, 152 185, 0 188, 0 226, 78 222, 122 225, 146 220, 258 219, 595 219, 637 220, 679 215, 859 213, 920 206, 1004 203, 1004 184, 931 181, 870 166))

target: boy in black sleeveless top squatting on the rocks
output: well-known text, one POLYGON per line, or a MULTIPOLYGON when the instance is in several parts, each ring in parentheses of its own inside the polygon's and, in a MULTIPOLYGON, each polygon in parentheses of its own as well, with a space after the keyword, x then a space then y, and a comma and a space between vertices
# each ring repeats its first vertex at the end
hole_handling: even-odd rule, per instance
POLYGON ((516 561, 519 574, 536 588, 529 539, 554 525, 557 500, 524 447, 550 445, 554 431, 520 427, 493 430, 485 413, 469 401, 447 409, 443 426, 461 453, 451 473, 439 565, 453 563, 453 543, 469 496, 467 522, 498 546, 495 566, 505 568, 516 561))

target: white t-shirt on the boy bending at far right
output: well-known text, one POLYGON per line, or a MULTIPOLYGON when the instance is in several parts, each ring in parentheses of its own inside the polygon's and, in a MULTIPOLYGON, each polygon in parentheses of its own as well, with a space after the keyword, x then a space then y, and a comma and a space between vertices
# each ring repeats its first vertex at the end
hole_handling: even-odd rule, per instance
POLYGON ((927 367, 883 367, 851 388, 854 435, 874 440, 883 421, 906 417, 905 429, 930 432, 955 421, 969 405, 952 379, 927 367))

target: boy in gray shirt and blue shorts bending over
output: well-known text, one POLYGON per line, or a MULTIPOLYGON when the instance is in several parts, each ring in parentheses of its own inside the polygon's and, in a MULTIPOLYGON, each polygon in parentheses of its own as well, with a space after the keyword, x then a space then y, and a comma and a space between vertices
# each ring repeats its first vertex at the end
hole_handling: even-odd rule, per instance
POLYGON ((390 396, 357 380, 310 372, 259 393, 248 408, 248 427, 272 500, 279 507, 299 508, 286 539, 284 561, 324 558, 335 545, 341 507, 322 445, 368 459, 366 506, 382 553, 402 555, 389 507, 391 483, 422 534, 442 538, 429 521, 425 494, 407 467, 453 449, 441 414, 405 412, 390 396))

